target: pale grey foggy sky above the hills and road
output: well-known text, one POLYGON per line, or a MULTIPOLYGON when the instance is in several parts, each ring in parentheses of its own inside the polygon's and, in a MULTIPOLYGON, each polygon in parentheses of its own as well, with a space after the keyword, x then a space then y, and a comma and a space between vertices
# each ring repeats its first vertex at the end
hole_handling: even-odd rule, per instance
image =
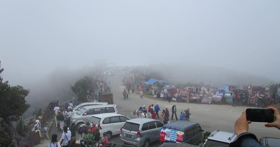
POLYGON ((188 62, 280 80, 279 6, 279 0, 1 0, 1 67, 5 80, 20 85, 94 60, 188 62))

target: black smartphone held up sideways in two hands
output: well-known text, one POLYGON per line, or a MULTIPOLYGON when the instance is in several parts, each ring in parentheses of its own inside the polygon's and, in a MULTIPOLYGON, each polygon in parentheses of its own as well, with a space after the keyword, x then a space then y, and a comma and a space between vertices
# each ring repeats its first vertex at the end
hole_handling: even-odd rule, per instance
POLYGON ((247 108, 246 119, 252 122, 273 122, 274 111, 272 109, 247 108))

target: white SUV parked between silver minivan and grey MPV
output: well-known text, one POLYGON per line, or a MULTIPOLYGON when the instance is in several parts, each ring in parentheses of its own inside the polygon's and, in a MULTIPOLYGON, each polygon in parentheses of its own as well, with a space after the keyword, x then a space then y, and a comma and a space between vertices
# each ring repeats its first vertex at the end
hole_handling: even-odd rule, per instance
POLYGON ((113 135, 120 134, 120 128, 125 121, 130 120, 128 117, 115 113, 104 113, 92 115, 89 119, 90 125, 95 123, 96 127, 99 127, 100 136, 106 132, 108 139, 111 139, 113 135))

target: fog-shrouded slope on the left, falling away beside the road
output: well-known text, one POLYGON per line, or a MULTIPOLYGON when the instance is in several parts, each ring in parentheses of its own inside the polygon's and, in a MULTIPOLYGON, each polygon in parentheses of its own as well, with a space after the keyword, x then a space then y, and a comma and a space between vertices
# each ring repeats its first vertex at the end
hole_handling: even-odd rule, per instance
POLYGON ((70 85, 85 75, 95 74, 97 71, 94 67, 80 69, 58 68, 48 74, 44 79, 37 81, 36 84, 24 86, 30 89, 29 95, 25 98, 31 107, 24 113, 24 117, 32 114, 35 108, 45 109, 51 101, 59 99, 59 104, 68 101, 75 94, 71 91, 70 85))

